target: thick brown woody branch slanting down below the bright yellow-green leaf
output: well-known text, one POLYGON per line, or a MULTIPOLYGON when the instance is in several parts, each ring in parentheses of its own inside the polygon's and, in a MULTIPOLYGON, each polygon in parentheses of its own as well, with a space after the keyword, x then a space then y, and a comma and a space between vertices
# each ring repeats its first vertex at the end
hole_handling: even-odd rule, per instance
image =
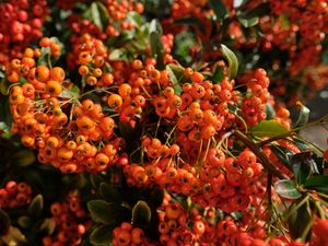
POLYGON ((280 169, 278 169, 274 164, 267 157, 263 151, 258 148, 258 145, 253 142, 246 134, 244 134, 239 130, 235 130, 234 136, 236 136, 246 147, 248 147, 255 155, 260 160, 262 166, 272 175, 281 178, 281 179, 290 179, 289 176, 283 174, 280 169))

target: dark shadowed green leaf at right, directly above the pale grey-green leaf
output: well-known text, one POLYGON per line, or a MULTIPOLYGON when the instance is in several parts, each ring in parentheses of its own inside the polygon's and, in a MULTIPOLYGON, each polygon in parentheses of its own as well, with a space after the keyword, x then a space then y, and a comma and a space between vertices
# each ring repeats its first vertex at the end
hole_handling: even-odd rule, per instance
POLYGON ((290 162, 298 184, 304 184, 311 175, 319 173, 309 151, 292 155, 290 162))

